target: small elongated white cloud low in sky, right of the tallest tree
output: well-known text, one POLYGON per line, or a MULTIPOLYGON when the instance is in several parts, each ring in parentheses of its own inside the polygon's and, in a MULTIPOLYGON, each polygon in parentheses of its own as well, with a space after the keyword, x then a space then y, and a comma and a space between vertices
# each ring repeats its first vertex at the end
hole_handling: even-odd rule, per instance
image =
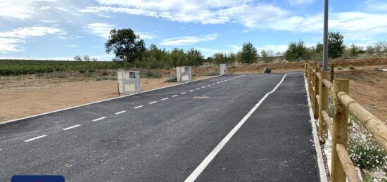
POLYGON ((191 45, 201 41, 213 41, 216 39, 216 37, 217 34, 207 34, 202 37, 176 37, 171 39, 163 39, 160 44, 165 46, 191 45))

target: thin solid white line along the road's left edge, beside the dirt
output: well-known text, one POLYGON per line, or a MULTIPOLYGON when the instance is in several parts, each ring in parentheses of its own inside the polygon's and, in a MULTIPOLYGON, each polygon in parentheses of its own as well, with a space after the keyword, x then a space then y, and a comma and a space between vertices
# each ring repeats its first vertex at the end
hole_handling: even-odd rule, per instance
POLYGON ((29 119, 29 118, 32 118, 32 117, 37 117, 37 116, 42 116, 42 115, 49 115, 49 114, 54 113, 54 112, 61 112, 63 110, 71 110, 71 109, 80 108, 80 107, 86 106, 86 105, 92 105, 92 104, 95 104, 95 103, 102 103, 102 102, 105 102, 105 101, 108 101, 108 100, 115 100, 115 99, 118 99, 118 98, 125 98, 125 97, 128 97, 128 96, 134 96, 134 95, 138 95, 138 94, 141 94, 141 93, 147 93, 147 92, 150 92, 150 91, 157 91, 157 90, 160 90, 160 89, 166 89, 166 88, 169 88, 169 87, 172 87, 172 86, 179 86, 179 85, 183 85, 183 84, 199 82, 199 81, 203 81, 205 79, 212 79, 212 78, 216 78, 216 77, 222 77, 222 75, 218 75, 218 76, 214 76, 214 77, 208 77, 208 78, 204 78, 204 79, 197 79, 197 80, 194 80, 194 81, 191 81, 191 82, 184 82, 184 83, 179 83, 179 84, 174 84, 174 85, 169 85, 169 86, 163 86, 163 87, 160 87, 160 88, 157 88, 157 89, 151 89, 151 90, 148 90, 148 91, 142 91, 140 93, 132 93, 132 94, 129 94, 129 95, 119 96, 119 97, 115 97, 115 98, 108 98, 108 99, 105 99, 105 100, 99 100, 99 101, 92 102, 92 103, 85 103, 85 104, 82 104, 82 105, 75 105, 75 106, 72 106, 70 108, 63 108, 63 109, 60 109, 60 110, 53 110, 53 111, 50 111, 50 112, 43 112, 43 113, 40 113, 40 114, 37 114, 37 115, 31 115, 31 116, 27 116, 27 117, 20 117, 20 118, 8 120, 6 122, 0 122, 0 124, 6 124, 8 122, 17 122, 17 121, 20 121, 20 120, 23 120, 23 119, 29 119))

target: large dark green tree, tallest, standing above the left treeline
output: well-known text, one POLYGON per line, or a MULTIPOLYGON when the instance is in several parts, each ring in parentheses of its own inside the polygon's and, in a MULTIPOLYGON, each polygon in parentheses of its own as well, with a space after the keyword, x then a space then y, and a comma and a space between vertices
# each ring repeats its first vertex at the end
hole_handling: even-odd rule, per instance
POLYGON ((144 40, 134 34, 131 29, 113 29, 105 43, 106 53, 113 51, 115 60, 134 62, 141 60, 146 52, 144 40))

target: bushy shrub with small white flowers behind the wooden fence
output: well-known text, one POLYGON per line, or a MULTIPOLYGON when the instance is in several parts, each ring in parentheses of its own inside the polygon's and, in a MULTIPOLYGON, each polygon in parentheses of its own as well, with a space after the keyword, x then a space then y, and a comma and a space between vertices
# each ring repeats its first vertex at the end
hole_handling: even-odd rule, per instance
POLYGON ((386 167, 387 154, 374 141, 371 134, 360 129, 355 119, 350 117, 348 133, 348 152, 353 163, 362 169, 378 169, 386 167))

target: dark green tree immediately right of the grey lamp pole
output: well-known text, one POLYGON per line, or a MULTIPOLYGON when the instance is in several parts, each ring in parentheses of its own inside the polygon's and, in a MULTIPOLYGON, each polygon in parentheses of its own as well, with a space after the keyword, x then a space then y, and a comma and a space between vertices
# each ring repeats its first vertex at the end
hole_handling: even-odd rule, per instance
POLYGON ((345 50, 344 36, 340 32, 329 32, 328 34, 328 56, 329 58, 340 58, 345 50))

